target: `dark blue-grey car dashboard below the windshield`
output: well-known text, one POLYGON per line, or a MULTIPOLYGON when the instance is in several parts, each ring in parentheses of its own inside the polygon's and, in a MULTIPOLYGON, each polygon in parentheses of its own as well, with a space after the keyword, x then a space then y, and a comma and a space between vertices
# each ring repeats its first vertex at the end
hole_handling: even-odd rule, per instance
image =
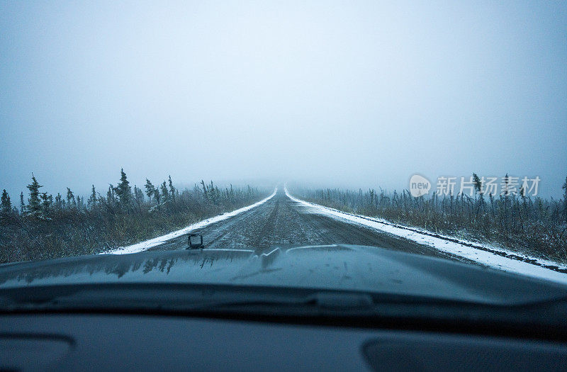
POLYGON ((158 315, 0 317, 1 371, 561 370, 567 344, 158 315))

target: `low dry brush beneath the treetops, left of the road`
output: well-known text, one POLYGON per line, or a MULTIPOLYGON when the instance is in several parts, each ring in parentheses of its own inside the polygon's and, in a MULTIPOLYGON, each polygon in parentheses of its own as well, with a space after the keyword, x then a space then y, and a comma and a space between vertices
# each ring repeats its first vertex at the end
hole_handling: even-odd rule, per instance
POLYGON ((94 205, 50 208, 42 215, 11 213, 0 218, 0 263, 96 254, 178 230, 192 222, 261 200, 256 188, 177 193, 159 205, 132 201, 124 208, 99 196, 94 205))

